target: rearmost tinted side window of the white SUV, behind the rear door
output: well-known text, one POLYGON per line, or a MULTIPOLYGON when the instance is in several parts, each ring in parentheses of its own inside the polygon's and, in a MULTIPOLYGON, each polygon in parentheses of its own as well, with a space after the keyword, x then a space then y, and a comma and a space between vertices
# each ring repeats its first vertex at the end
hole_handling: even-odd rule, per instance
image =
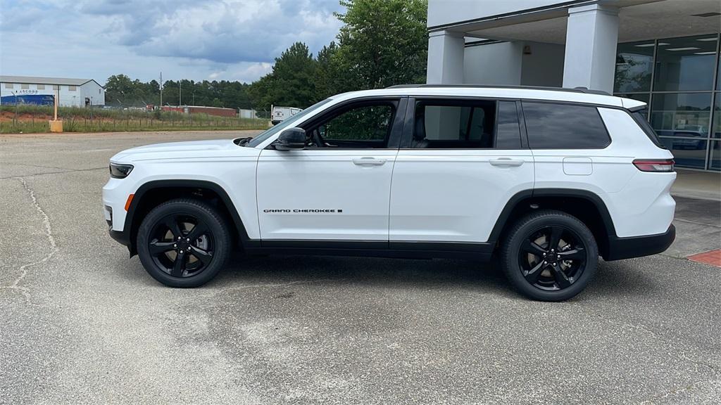
POLYGON ((611 143, 596 107, 523 102, 531 148, 605 148, 611 143))

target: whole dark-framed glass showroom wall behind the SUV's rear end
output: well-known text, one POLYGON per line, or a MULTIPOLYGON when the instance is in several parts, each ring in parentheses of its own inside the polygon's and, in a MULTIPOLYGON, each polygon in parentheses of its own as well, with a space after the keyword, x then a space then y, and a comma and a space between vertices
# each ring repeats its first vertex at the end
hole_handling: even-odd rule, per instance
POLYGON ((721 169, 718 41, 709 34, 616 48, 614 94, 648 104, 647 119, 681 167, 721 169))

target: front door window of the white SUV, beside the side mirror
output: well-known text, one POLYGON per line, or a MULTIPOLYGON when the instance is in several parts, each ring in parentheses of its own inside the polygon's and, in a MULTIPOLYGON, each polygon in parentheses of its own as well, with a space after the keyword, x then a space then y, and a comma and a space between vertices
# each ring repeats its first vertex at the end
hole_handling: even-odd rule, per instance
POLYGON ((352 107, 310 130, 316 146, 327 148, 385 148, 394 117, 391 103, 352 107))

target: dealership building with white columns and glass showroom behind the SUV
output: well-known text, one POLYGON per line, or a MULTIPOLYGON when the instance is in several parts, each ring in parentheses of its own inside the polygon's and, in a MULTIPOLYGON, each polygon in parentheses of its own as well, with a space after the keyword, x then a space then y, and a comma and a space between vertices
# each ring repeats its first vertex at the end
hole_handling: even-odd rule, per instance
POLYGON ((719 0, 429 0, 428 83, 647 102, 678 166, 721 170, 719 0))

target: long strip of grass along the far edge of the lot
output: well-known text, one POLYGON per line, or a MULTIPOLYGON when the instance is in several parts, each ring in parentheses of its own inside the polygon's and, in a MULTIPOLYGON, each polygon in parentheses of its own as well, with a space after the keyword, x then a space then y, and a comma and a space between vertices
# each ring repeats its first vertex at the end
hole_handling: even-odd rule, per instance
MULTIPOLYGON (((0 106, 0 133, 50 132, 48 123, 53 107, 0 106)), ((115 132, 140 130, 258 130, 267 120, 216 117, 206 114, 143 110, 101 110, 97 108, 58 108, 58 119, 65 132, 115 132)))

